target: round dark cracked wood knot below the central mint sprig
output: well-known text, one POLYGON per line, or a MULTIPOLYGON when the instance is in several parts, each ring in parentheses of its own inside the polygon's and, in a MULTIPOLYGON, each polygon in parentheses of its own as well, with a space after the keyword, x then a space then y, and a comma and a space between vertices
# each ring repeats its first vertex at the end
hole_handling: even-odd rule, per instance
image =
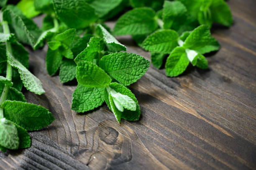
POLYGON ((108 145, 114 145, 118 139, 119 132, 112 127, 100 127, 100 140, 108 145))

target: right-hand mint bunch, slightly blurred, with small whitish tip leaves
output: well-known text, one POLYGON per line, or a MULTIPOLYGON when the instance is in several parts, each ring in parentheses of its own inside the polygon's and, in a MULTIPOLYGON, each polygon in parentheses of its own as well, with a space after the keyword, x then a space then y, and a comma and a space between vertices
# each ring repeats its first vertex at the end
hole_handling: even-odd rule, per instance
POLYGON ((148 7, 128 11, 118 19, 113 32, 132 35, 139 46, 151 52, 157 69, 169 54, 165 69, 166 75, 172 77, 182 74, 189 61, 200 69, 208 68, 203 54, 220 48, 210 34, 212 23, 232 25, 224 0, 166 0, 157 13, 148 7))

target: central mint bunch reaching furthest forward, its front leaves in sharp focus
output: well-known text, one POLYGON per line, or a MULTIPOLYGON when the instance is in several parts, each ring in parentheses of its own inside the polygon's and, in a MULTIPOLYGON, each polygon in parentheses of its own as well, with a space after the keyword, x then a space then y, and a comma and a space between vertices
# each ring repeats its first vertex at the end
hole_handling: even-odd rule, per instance
POLYGON ((126 53, 126 47, 102 23, 125 1, 34 1, 36 10, 49 14, 34 49, 47 40, 48 73, 59 70, 62 83, 77 79, 72 109, 87 112, 105 101, 119 123, 121 118, 139 119, 138 101, 126 86, 140 79, 150 65, 145 58, 126 53))

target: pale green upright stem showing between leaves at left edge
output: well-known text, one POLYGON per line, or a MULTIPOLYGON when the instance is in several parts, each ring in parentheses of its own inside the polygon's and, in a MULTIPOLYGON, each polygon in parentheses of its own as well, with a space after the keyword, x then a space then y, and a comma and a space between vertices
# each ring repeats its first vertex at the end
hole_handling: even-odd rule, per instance
MULTIPOLYGON (((10 29, 8 26, 8 23, 6 21, 2 21, 3 24, 3 30, 5 34, 10 33, 10 29)), ((6 51, 8 51, 10 54, 12 54, 12 48, 10 42, 6 42, 6 51)), ((6 78, 7 79, 12 79, 12 73, 13 73, 13 68, 10 66, 9 63, 7 63, 7 70, 6 70, 6 78)), ((3 118, 3 102, 7 99, 9 92, 9 86, 5 84, 5 87, 3 89, 3 93, 0 98, 0 118, 3 118)))

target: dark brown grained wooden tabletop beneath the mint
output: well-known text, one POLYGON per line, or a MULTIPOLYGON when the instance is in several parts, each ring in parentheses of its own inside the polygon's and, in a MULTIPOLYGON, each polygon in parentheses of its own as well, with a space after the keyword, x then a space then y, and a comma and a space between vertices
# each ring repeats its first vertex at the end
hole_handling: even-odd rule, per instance
MULTIPOLYGON (((0 152, 0 169, 255 170, 256 1, 228 4, 234 25, 212 28, 221 49, 207 57, 210 69, 189 67, 169 78, 151 66, 131 85, 141 106, 136 122, 118 124, 105 104, 86 114, 72 111, 75 83, 46 73, 46 48, 30 51, 30 69, 46 94, 26 91, 26 99, 56 120, 30 133, 31 148, 0 152)), ((118 40, 150 59, 130 36, 118 40)))

